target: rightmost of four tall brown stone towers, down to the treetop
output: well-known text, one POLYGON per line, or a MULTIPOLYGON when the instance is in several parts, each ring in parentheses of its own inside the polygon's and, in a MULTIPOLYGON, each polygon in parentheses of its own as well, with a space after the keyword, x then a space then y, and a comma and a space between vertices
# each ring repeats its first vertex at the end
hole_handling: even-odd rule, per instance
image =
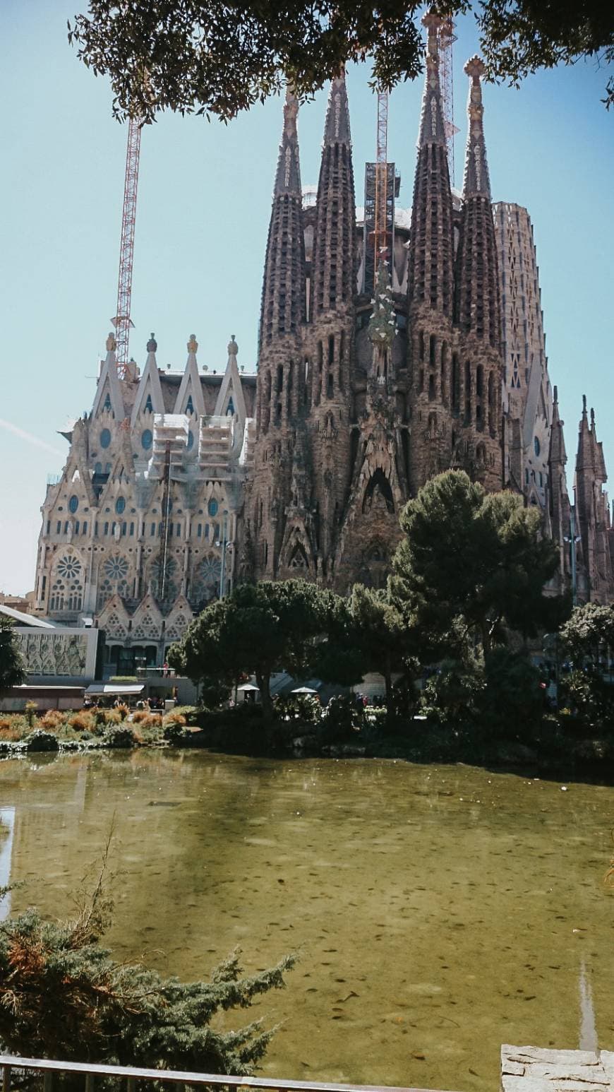
POLYGON ((457 462, 486 489, 503 487, 501 301, 491 182, 484 141, 484 63, 472 57, 462 216, 456 259, 455 318, 459 327, 458 413, 462 448, 457 462))

